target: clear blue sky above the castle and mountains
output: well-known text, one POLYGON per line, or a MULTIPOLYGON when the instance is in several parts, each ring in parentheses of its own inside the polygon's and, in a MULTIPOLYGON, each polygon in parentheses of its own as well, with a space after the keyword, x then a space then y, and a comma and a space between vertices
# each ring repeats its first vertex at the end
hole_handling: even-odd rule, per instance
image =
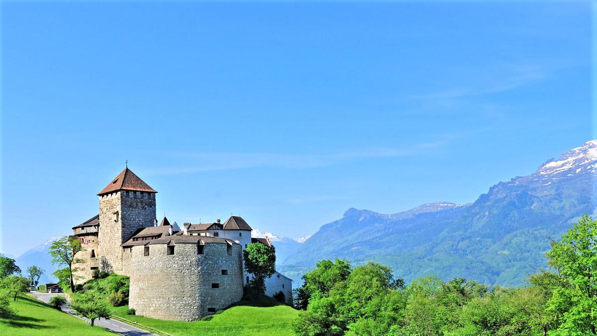
POLYGON ((97 213, 288 237, 467 203, 593 138, 589 2, 3 2, 2 245, 97 213))

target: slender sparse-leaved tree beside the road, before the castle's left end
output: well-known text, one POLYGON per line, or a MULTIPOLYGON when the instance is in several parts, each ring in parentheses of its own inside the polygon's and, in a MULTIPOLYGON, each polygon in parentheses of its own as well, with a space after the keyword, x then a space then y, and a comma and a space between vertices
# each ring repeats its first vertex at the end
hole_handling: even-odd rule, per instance
POLYGON ((75 292, 75 280, 79 279, 76 276, 76 271, 80 268, 76 267, 76 264, 84 262, 80 258, 75 258, 77 252, 81 251, 81 242, 78 239, 70 239, 68 236, 64 236, 56 242, 53 242, 50 246, 50 255, 52 256, 52 263, 63 266, 60 270, 54 272, 59 280, 68 281, 70 291, 75 292), (65 275, 68 274, 68 279, 65 275))

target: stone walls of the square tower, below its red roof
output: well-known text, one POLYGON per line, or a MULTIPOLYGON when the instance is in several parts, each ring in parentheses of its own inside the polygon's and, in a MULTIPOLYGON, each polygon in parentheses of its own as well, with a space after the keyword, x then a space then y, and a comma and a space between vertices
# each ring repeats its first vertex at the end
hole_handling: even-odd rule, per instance
POLYGON ((129 275, 130 255, 123 256, 124 252, 120 245, 137 229, 153 226, 155 218, 155 194, 153 193, 117 191, 100 196, 101 269, 129 275))

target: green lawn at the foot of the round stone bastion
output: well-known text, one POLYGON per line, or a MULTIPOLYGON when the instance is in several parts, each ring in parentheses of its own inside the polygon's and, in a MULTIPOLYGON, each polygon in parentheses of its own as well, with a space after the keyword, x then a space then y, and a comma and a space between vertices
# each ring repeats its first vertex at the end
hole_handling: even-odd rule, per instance
POLYGON ((298 310, 275 300, 259 303, 240 301, 211 321, 178 322, 127 315, 127 306, 114 308, 114 314, 141 325, 173 335, 294 335, 291 323, 298 310))

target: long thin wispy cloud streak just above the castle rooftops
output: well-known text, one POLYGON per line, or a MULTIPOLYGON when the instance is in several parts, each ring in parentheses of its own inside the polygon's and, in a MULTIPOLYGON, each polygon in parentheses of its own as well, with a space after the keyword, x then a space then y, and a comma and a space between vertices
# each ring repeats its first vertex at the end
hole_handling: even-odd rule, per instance
POLYGON ((327 154, 275 154, 275 153, 214 153, 174 152, 168 153, 175 167, 150 170, 151 175, 192 174, 214 170, 273 167, 281 169, 309 169, 349 163, 368 158, 395 158, 421 154, 425 150, 439 148, 450 142, 451 136, 433 142, 418 143, 409 148, 368 148, 327 154))

